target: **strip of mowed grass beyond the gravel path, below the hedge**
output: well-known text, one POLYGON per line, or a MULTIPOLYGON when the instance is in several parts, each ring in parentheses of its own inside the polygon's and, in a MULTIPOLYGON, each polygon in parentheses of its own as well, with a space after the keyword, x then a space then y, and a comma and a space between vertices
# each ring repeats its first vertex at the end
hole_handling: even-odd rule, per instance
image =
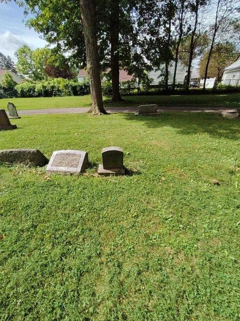
MULTIPOLYGON (((124 102, 112 104, 111 97, 103 96, 105 108, 122 106, 137 107, 142 104, 157 104, 160 107, 189 107, 189 108, 240 108, 240 94, 221 95, 175 95, 175 96, 123 96, 124 102)), ((66 97, 40 97, 40 98, 11 98, 0 99, 0 108, 7 110, 8 101, 12 101, 17 110, 46 109, 46 108, 73 108, 91 106, 90 95, 66 97)))

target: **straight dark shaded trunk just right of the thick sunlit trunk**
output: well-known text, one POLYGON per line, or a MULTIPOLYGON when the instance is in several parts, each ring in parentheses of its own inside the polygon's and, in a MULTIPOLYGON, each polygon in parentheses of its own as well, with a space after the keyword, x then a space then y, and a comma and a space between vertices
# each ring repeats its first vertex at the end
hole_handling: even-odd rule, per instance
POLYGON ((119 0, 111 1, 111 74, 113 96, 111 102, 123 101, 119 89, 119 0))

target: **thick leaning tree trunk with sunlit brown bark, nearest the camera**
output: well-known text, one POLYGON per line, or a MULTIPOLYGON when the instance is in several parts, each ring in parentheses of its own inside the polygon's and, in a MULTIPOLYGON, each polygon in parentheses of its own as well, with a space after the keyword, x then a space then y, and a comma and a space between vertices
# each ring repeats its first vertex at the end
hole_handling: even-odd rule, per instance
POLYGON ((103 108, 100 63, 97 45, 96 13, 94 0, 79 0, 87 57, 87 73, 92 96, 92 114, 107 114, 103 108))

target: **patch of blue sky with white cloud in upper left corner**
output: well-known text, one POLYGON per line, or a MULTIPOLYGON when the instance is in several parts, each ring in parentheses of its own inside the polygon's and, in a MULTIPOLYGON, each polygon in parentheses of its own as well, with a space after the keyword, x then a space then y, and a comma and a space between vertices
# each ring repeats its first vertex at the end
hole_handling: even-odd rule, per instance
POLYGON ((30 48, 44 47, 46 42, 39 34, 25 26, 23 8, 14 2, 0 3, 0 52, 9 55, 14 61, 14 52, 26 43, 30 48))

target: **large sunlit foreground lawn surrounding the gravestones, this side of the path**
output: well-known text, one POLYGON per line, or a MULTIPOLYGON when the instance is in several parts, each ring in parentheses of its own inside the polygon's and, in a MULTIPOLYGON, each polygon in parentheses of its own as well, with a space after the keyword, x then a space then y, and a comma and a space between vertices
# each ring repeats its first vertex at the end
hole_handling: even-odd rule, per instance
POLYGON ((92 164, 80 177, 0 166, 0 320, 239 320, 239 119, 12 123, 0 149, 85 150, 92 164), (96 176, 111 145, 131 175, 96 176))

